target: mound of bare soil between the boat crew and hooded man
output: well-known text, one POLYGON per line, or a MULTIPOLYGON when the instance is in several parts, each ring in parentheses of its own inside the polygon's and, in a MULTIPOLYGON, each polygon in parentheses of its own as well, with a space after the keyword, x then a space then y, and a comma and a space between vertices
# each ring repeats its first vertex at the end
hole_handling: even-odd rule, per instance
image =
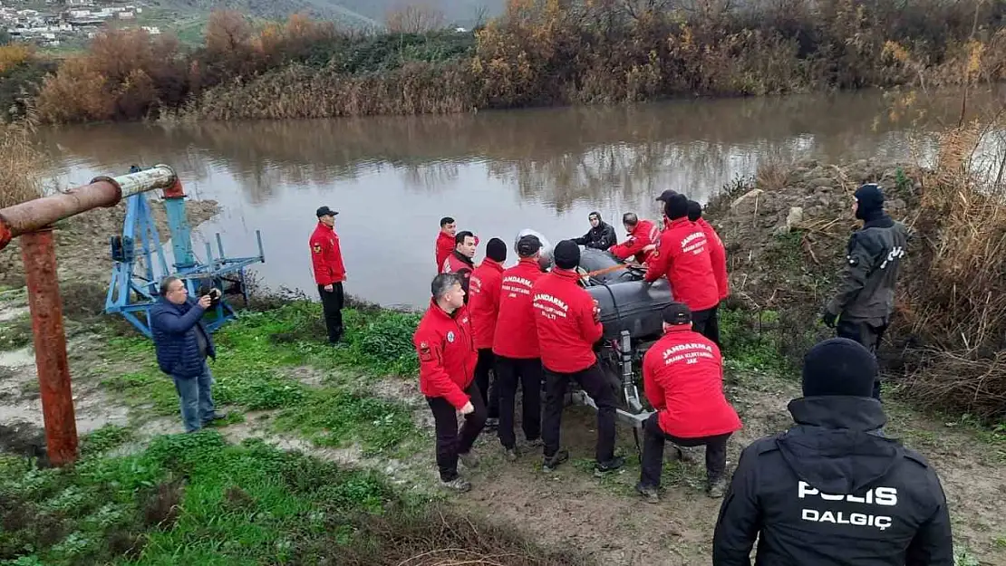
POLYGON ((856 188, 880 184, 888 214, 910 223, 920 192, 915 171, 906 163, 809 160, 766 167, 725 187, 703 215, 726 245, 727 307, 750 314, 752 330, 770 333, 799 364, 811 345, 834 335, 820 319, 835 292, 849 236, 861 226, 852 213, 856 188))

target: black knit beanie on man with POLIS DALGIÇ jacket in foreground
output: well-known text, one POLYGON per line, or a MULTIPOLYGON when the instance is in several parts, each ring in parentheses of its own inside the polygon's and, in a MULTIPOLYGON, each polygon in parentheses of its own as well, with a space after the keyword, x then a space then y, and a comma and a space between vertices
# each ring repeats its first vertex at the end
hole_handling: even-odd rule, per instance
POLYGON ((870 397, 877 372, 876 359, 858 342, 848 338, 819 342, 804 356, 804 397, 870 397))

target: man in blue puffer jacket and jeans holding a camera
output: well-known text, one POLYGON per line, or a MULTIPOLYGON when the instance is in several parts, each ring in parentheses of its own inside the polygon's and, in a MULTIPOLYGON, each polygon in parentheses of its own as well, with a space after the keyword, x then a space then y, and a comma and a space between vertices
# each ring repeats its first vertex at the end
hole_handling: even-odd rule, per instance
POLYGON ((212 301, 208 295, 199 301, 189 299, 181 279, 166 277, 161 297, 150 311, 157 365, 175 381, 186 432, 223 418, 213 407, 213 374, 206 363, 206 358, 216 360, 216 350, 201 322, 212 301))

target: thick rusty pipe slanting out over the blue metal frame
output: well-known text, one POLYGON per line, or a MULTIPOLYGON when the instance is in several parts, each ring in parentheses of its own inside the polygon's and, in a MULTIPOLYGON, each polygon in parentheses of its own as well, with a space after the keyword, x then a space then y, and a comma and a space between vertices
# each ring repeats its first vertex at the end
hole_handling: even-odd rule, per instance
POLYGON ((10 240, 92 208, 110 207, 138 193, 167 189, 177 176, 167 165, 119 177, 96 177, 91 184, 0 210, 0 249, 10 240))

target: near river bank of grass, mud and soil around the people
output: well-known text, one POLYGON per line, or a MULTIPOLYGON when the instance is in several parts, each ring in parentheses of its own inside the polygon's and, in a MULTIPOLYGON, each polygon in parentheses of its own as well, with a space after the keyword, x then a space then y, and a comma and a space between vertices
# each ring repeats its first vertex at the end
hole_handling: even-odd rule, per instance
MULTIPOLYGON (((744 423, 729 444, 730 467, 752 439, 792 422, 786 403, 799 396, 799 382, 790 362, 802 343, 781 346, 785 336, 815 338, 808 313, 829 285, 816 277, 841 264, 853 225, 842 211, 865 178, 891 187, 896 216, 912 209, 916 184, 928 186, 906 165, 804 162, 763 170, 754 185, 741 181, 706 212, 727 241, 736 296, 722 314, 726 391, 744 423), (788 224, 794 206, 805 217, 788 224), (823 230, 816 223, 823 218, 842 229, 823 230), (808 236, 811 251, 802 252, 808 236), (749 255, 753 250, 764 254, 749 255), (817 295, 803 295, 806 289, 817 295), (780 332, 797 306, 805 326, 780 332)), ((99 263, 95 258, 106 253, 104 238, 85 241, 93 247, 63 256, 63 289, 79 282, 85 262, 99 263)), ((86 456, 74 469, 35 469, 10 455, 44 455, 24 301, 23 289, 0 294, 4 336, 15 343, 0 339, 0 445, 7 452, 0 491, 19 495, 0 511, 11 521, 41 519, 5 533, 3 558, 253 564, 279 556, 324 563, 334 549, 348 564, 390 565, 420 555, 427 562, 413 563, 434 564, 443 554, 433 551, 463 548, 469 559, 505 553, 514 557, 510 563, 528 565, 708 560, 720 502, 701 491, 701 454, 668 462, 663 503, 645 505, 633 491, 639 466, 625 427, 618 449, 629 456, 626 469, 601 481, 591 474, 595 419, 583 407, 570 407, 563 419, 571 459, 557 473, 543 475, 533 452, 505 462, 498 441, 486 435, 476 445, 482 464, 465 470, 475 490, 460 497, 439 492, 432 419, 410 346, 418 317, 367 305, 347 310, 346 345, 332 349, 317 304, 260 297, 216 335, 215 394, 228 417, 196 436, 180 434, 175 393, 150 342, 115 321, 78 317, 67 323, 68 348, 86 456), (426 514, 415 519, 417 509, 426 514), (398 534, 394 544, 387 542, 391 533, 398 534), (402 533, 409 535, 404 541, 402 533), (385 554, 375 556, 376 545, 385 554)), ((885 390, 887 430, 940 473, 958 564, 1006 564, 1006 438, 960 412, 913 408, 903 393, 885 390)))

